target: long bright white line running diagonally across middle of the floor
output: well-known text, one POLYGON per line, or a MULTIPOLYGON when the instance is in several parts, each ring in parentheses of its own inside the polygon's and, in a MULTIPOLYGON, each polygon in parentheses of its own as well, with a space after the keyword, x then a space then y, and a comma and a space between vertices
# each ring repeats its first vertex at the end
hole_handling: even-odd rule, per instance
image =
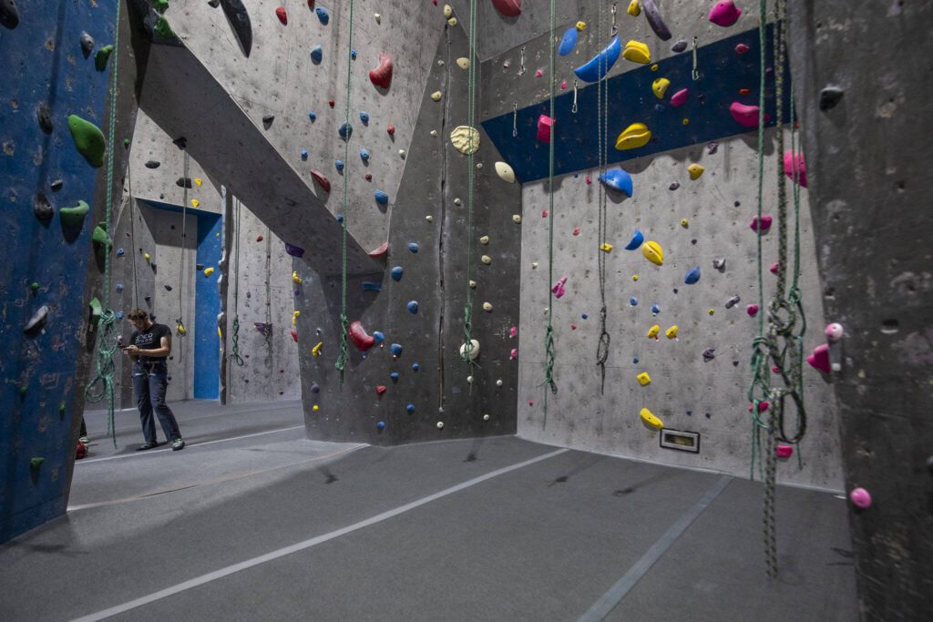
POLYGON ((497 469, 493 471, 492 473, 487 473, 486 475, 483 475, 480 477, 474 477, 472 479, 468 479, 463 483, 457 484, 456 486, 452 486, 451 488, 445 489, 443 491, 435 492, 434 494, 430 494, 426 497, 422 497, 421 499, 418 499, 417 501, 412 501, 410 504, 399 505, 398 507, 394 509, 385 511, 382 514, 377 514, 374 517, 361 520, 357 523, 354 523, 353 525, 343 527, 337 531, 325 533, 324 535, 318 535, 309 540, 299 542, 298 544, 294 544, 291 546, 285 546, 285 548, 280 548, 278 550, 272 551, 271 553, 260 555, 259 557, 253 558, 252 560, 241 561, 240 563, 235 563, 231 566, 227 566, 226 568, 221 568, 220 570, 216 570, 213 573, 202 574, 201 576, 195 577, 193 579, 189 579, 188 581, 179 583, 172 587, 166 587, 165 589, 161 589, 158 592, 149 594, 148 596, 144 596, 142 598, 138 598, 134 601, 124 602, 123 604, 118 604, 115 607, 104 609, 103 611, 99 611, 95 614, 78 617, 73 622, 91 622, 91 620, 103 620, 104 618, 110 617, 111 615, 122 614, 125 611, 130 611, 131 609, 135 609, 136 607, 141 607, 144 604, 148 604, 149 602, 159 601, 160 599, 167 598, 169 596, 174 596, 174 594, 178 594, 179 592, 183 592, 187 589, 191 589, 192 587, 202 586, 205 583, 216 581, 217 579, 223 578, 230 574, 239 573, 242 570, 246 570, 247 568, 252 568, 253 566, 258 566, 259 564, 265 563, 267 561, 278 560, 279 558, 283 558, 286 555, 291 555, 292 553, 297 553, 306 548, 311 548, 312 546, 317 546, 319 544, 325 543, 328 540, 339 538, 341 535, 346 535, 347 533, 355 532, 357 530, 363 529, 364 527, 369 527, 370 525, 374 525, 378 522, 382 522, 383 520, 397 517, 399 514, 404 514, 405 512, 408 512, 409 510, 415 509, 416 507, 429 504, 432 501, 437 501, 438 499, 451 495, 455 492, 463 491, 472 486, 476 486, 477 484, 480 484, 486 481, 487 479, 492 479, 493 477, 499 477, 501 475, 510 473, 511 471, 521 469, 525 466, 529 466, 534 463, 539 463, 544 460, 548 460, 549 458, 553 458, 554 456, 559 456, 562 453, 565 453, 566 451, 569 451, 569 449, 558 449, 557 451, 551 451, 550 453, 537 456, 536 458, 532 458, 531 460, 526 460, 523 463, 517 463, 517 464, 511 464, 510 466, 505 466, 501 469, 497 469))

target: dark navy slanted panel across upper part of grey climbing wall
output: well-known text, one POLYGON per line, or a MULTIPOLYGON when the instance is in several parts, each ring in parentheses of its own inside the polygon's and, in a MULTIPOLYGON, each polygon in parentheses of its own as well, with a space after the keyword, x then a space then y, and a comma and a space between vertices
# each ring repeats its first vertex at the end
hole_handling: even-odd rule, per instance
MULTIPOLYGON (((766 31, 767 67, 771 67, 773 28, 766 31)), ((729 136, 757 132, 736 122, 730 113, 733 102, 759 104, 759 31, 750 30, 698 48, 697 65, 701 79, 692 79, 693 59, 688 51, 658 63, 656 71, 650 65, 613 76, 604 83, 608 96, 604 101, 608 119, 606 159, 608 163, 641 158, 679 147, 717 141, 729 136), (736 46, 744 44, 744 54, 736 46), (666 77, 671 85, 663 100, 655 97, 651 84, 666 77), (671 105, 671 96, 689 89, 685 104, 671 105), (748 90, 748 94, 742 94, 748 90), (688 123, 684 123, 684 119, 688 123), (647 145, 618 151, 616 137, 632 123, 644 123, 651 131, 647 145)), ((620 59, 619 62, 627 62, 620 59)), ((784 118, 789 117, 789 69, 786 70, 784 118)), ((568 80, 569 81, 569 80, 568 80)), ((765 112, 767 125, 774 124, 774 79, 770 70, 766 76, 765 112)), ((562 91, 554 100, 554 174, 573 173, 599 165, 599 134, 597 85, 581 86, 578 90, 578 110, 574 114, 573 92, 562 91)), ((507 113, 486 119, 482 127, 515 171, 522 183, 548 176, 549 145, 537 140, 537 119, 549 115, 550 102, 519 109, 518 135, 512 136, 513 115, 507 113)))

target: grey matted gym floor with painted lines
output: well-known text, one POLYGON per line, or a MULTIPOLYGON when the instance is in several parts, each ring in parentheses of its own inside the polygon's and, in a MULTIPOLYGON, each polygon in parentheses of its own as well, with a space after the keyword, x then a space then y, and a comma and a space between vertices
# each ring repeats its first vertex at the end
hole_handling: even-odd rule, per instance
POLYGON ((89 414, 68 516, 0 546, 4 619, 857 619, 829 493, 779 489, 771 581, 754 482, 514 437, 313 442, 297 403, 174 409, 179 452, 133 451, 134 412, 115 450, 89 414))

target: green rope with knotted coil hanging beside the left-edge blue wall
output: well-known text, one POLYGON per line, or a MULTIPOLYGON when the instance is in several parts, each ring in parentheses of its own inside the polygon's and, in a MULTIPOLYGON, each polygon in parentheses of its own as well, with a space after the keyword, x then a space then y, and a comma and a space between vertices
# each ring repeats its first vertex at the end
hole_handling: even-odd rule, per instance
MULTIPOLYGON (((107 235, 111 235, 111 218, 113 213, 113 181, 114 181, 114 135, 117 133, 117 71, 119 60, 119 14, 120 4, 117 3, 117 17, 114 21, 114 60, 112 64, 112 80, 110 84, 110 111, 107 120, 107 195, 104 210, 106 211, 107 235)), ((132 197, 131 197, 132 200, 132 197)), ((107 398, 107 434, 117 448, 117 427, 114 424, 114 359, 117 351, 117 314, 110 309, 110 253, 112 244, 104 244, 104 305, 101 317, 97 321, 97 374, 84 389, 84 398, 91 403, 100 402, 107 398)))

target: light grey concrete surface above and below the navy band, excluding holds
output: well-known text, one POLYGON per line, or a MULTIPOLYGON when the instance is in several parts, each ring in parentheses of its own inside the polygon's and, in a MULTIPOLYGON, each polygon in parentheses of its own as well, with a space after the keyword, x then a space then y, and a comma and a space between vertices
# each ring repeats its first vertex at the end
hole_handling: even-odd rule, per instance
MULTIPOLYGON (((561 7, 558 35, 577 20, 587 21, 588 26, 575 51, 558 57, 558 84, 566 80, 571 89, 573 69, 606 45, 611 24, 609 7, 604 5, 602 17, 594 2, 561 7)), ((644 16, 627 15, 624 6, 620 5, 616 17, 622 40, 647 43, 652 62, 672 56, 671 46, 678 39, 691 41, 697 35, 700 45, 707 45, 758 26, 757 14, 747 12, 732 28, 720 28, 706 21, 707 9, 698 10, 685 3, 664 3, 663 9, 674 34, 668 42, 654 35, 644 16)), ((495 54, 483 63, 483 117, 510 113, 513 104, 523 107, 547 98, 547 77, 536 76, 536 70, 542 69, 545 75, 548 71, 548 19, 548 10, 543 6, 528 7, 519 18, 508 20, 494 12, 480 12, 483 32, 501 31, 502 35, 483 39, 484 52, 495 54), (520 75, 522 56, 526 71, 520 75)), ((620 59, 609 76, 639 66, 620 59)), ((714 71, 703 66, 699 69, 714 71)), ((650 92, 646 95, 653 99, 650 92)), ((643 120, 618 118, 612 110, 607 118, 610 150, 621 130, 643 120)), ((771 146, 773 131, 768 134, 766 213, 773 212, 777 167, 771 146)), ((594 124, 594 150, 597 141, 594 124)), ((549 221, 542 217, 543 211, 550 210, 547 182, 524 186, 520 435, 651 462, 748 475, 752 424, 745 395, 750 380, 751 344, 758 325, 757 319, 746 314, 745 307, 758 302, 757 241, 749 228, 757 212, 756 145, 753 132, 718 141, 715 153, 703 144, 623 163, 623 168, 633 173, 635 189, 634 199, 609 200, 606 210, 606 240, 614 249, 605 256, 606 331, 611 338, 605 390, 601 389, 601 368, 595 364, 601 333, 598 187, 595 182, 586 182, 586 175, 595 180, 598 171, 579 171, 555 179, 552 279, 548 275, 549 221), (689 179, 687 167, 691 163, 700 163, 706 169, 696 181, 689 179), (669 189, 672 184, 679 188, 669 189), (681 225, 682 220, 686 220, 686 226, 681 225), (665 254, 662 267, 649 263, 640 251, 623 250, 636 228, 644 232, 646 240, 661 243, 665 254), (713 268, 717 258, 726 259, 724 270, 713 268), (702 274, 699 283, 684 283, 687 271, 695 266, 702 274), (564 275, 569 277, 567 294, 553 298, 551 303, 557 350, 554 375, 559 392, 547 396, 545 408, 541 384, 545 380, 548 295, 552 282, 564 275), (726 309, 726 301, 736 295, 741 302, 726 309), (660 310, 657 314, 652 312, 655 305, 660 310), (648 339, 648 329, 656 324, 661 327, 660 339, 648 339), (672 325, 678 326, 678 339, 665 339, 664 331, 672 325), (708 348, 715 349, 711 360, 703 357, 708 348), (645 387, 636 380, 642 372, 648 372, 651 379, 645 387), (648 408, 667 428, 699 433, 699 453, 661 448, 659 433, 649 431, 640 421, 641 408, 648 408)), ((802 207, 801 288, 812 326, 804 341, 804 349, 809 352, 823 340, 824 318, 805 193, 802 207)), ((775 232, 776 228, 763 237, 766 301, 774 279, 767 269, 776 254, 775 232)), ((818 372, 805 366, 804 374, 809 419, 807 435, 799 448, 802 467, 795 456, 779 464, 778 477, 785 482, 839 490, 842 470, 834 399, 818 372)), ((795 421, 790 412, 787 421, 789 431, 795 421)))

